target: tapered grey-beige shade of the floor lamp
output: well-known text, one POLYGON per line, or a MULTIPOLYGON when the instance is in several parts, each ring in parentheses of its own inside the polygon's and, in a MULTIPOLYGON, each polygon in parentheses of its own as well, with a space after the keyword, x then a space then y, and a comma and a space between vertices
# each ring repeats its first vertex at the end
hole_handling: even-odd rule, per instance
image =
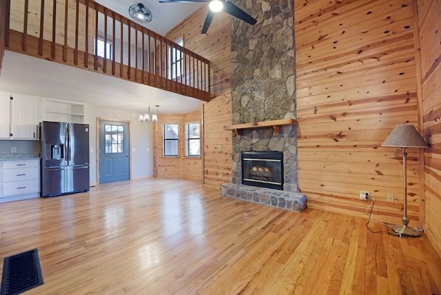
POLYGON ((427 143, 413 125, 396 125, 382 147, 428 148, 427 143))

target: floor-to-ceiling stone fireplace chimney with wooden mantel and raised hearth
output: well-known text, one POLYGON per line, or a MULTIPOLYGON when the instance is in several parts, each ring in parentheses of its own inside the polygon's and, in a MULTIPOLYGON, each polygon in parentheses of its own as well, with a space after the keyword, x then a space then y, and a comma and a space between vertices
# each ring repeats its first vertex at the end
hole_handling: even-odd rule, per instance
MULTIPOLYGON (((288 210, 306 208, 298 193, 293 1, 243 1, 254 26, 232 19, 232 183, 224 196, 288 210), (242 152, 281 152, 283 190, 246 185, 242 152)), ((247 168, 248 169, 248 168, 247 168)), ((258 166, 256 166, 258 170, 258 166)))

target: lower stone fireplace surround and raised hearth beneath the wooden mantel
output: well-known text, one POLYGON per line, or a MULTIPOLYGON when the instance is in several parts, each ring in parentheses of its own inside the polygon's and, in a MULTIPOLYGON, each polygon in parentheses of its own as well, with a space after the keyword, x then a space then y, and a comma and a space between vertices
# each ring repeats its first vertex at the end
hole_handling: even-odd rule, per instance
MULTIPOLYGON (((234 125, 233 125, 234 126, 234 125)), ((234 128, 228 126, 227 128, 234 128)), ((225 183, 220 187, 223 196, 230 196, 254 203, 262 203, 287 210, 301 212, 306 209, 305 194, 298 192, 297 185, 297 126, 287 125, 280 127, 280 133, 274 132, 274 128, 243 130, 233 136, 233 178, 232 183, 225 183), (244 166, 242 161, 245 154, 252 151, 253 154, 282 154, 283 180, 281 187, 262 187, 261 185, 249 185, 243 181, 245 170, 253 167, 264 168, 263 161, 253 161, 252 167, 244 166), (283 190, 282 190, 283 188, 283 190)), ((274 169, 274 168, 270 168, 274 169)), ((264 169, 265 172, 265 169, 264 169)), ((263 174, 265 175, 265 174, 263 174)))

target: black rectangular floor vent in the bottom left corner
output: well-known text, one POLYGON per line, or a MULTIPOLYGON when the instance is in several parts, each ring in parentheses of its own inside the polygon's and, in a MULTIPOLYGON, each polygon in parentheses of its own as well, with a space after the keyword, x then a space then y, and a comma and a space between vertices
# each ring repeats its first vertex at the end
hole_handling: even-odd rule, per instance
POLYGON ((43 283, 39 251, 37 249, 4 259, 1 295, 20 294, 43 283))

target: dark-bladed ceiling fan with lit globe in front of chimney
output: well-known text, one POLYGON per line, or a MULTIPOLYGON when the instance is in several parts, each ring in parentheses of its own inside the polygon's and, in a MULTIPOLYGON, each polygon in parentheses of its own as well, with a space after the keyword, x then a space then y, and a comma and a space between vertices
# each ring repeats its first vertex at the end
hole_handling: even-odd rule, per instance
POLYGON ((251 15, 247 14, 247 12, 241 10, 236 5, 229 0, 159 0, 159 3, 173 3, 173 2, 181 2, 181 3, 209 3, 209 10, 207 13, 207 17, 205 17, 204 26, 202 27, 201 34, 207 34, 208 27, 210 23, 212 23, 214 14, 221 10, 231 14, 233 17, 237 17, 250 25, 254 25, 257 20, 254 19, 251 15))

